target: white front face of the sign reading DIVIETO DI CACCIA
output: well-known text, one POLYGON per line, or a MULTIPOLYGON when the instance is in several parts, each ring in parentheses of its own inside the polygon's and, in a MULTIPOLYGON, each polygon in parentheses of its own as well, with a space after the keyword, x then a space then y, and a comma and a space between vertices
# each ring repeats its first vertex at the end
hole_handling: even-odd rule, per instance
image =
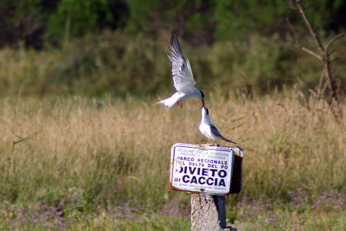
POLYGON ((171 190, 224 195, 230 192, 231 147, 177 143, 171 150, 171 190))

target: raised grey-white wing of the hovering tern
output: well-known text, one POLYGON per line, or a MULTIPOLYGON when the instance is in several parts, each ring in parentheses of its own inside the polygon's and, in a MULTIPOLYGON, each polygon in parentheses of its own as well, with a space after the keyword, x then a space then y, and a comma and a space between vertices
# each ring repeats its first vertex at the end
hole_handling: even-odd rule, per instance
POLYGON ((172 62, 172 77, 175 89, 185 92, 193 91, 196 82, 192 76, 190 63, 183 56, 175 30, 172 32, 169 51, 171 56, 168 56, 168 58, 172 62))

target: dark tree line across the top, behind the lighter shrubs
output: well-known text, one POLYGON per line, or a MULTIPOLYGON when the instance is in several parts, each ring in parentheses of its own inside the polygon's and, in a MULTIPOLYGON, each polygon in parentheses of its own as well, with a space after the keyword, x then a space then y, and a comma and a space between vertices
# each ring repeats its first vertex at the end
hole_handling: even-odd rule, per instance
MULTIPOLYGON (((306 0, 305 8, 315 28, 330 33, 346 27, 346 0, 306 0)), ((254 31, 284 37, 286 18, 299 27, 289 0, 2 0, 0 47, 60 46, 105 28, 155 38, 175 27, 195 45, 254 31)))

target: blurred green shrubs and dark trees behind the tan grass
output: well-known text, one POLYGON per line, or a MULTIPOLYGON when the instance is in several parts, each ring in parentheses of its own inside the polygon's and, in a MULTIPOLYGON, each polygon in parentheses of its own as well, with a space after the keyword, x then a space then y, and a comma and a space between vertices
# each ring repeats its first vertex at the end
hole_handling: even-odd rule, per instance
MULTIPOLYGON (((345 31, 346 0, 304 6, 323 42, 345 31)), ((322 64, 295 47, 286 18, 301 44, 316 50, 287 0, 1 1, 0 95, 169 96, 173 28, 205 92, 247 97, 298 84, 298 77, 313 87, 322 64)), ((333 47, 345 45, 339 39, 333 47)), ((345 50, 332 58, 344 79, 345 50)))

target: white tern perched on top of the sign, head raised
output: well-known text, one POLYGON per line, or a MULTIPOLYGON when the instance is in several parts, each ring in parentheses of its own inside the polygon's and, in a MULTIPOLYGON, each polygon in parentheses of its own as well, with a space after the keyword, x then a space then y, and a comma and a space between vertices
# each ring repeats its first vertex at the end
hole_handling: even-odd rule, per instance
POLYGON ((206 107, 202 108, 202 121, 200 124, 200 131, 208 138, 208 142, 206 144, 209 144, 210 139, 213 139, 213 143, 211 145, 214 145, 215 139, 222 139, 224 141, 234 143, 233 141, 224 138, 224 136, 219 133, 218 129, 210 122, 209 110, 206 107))

